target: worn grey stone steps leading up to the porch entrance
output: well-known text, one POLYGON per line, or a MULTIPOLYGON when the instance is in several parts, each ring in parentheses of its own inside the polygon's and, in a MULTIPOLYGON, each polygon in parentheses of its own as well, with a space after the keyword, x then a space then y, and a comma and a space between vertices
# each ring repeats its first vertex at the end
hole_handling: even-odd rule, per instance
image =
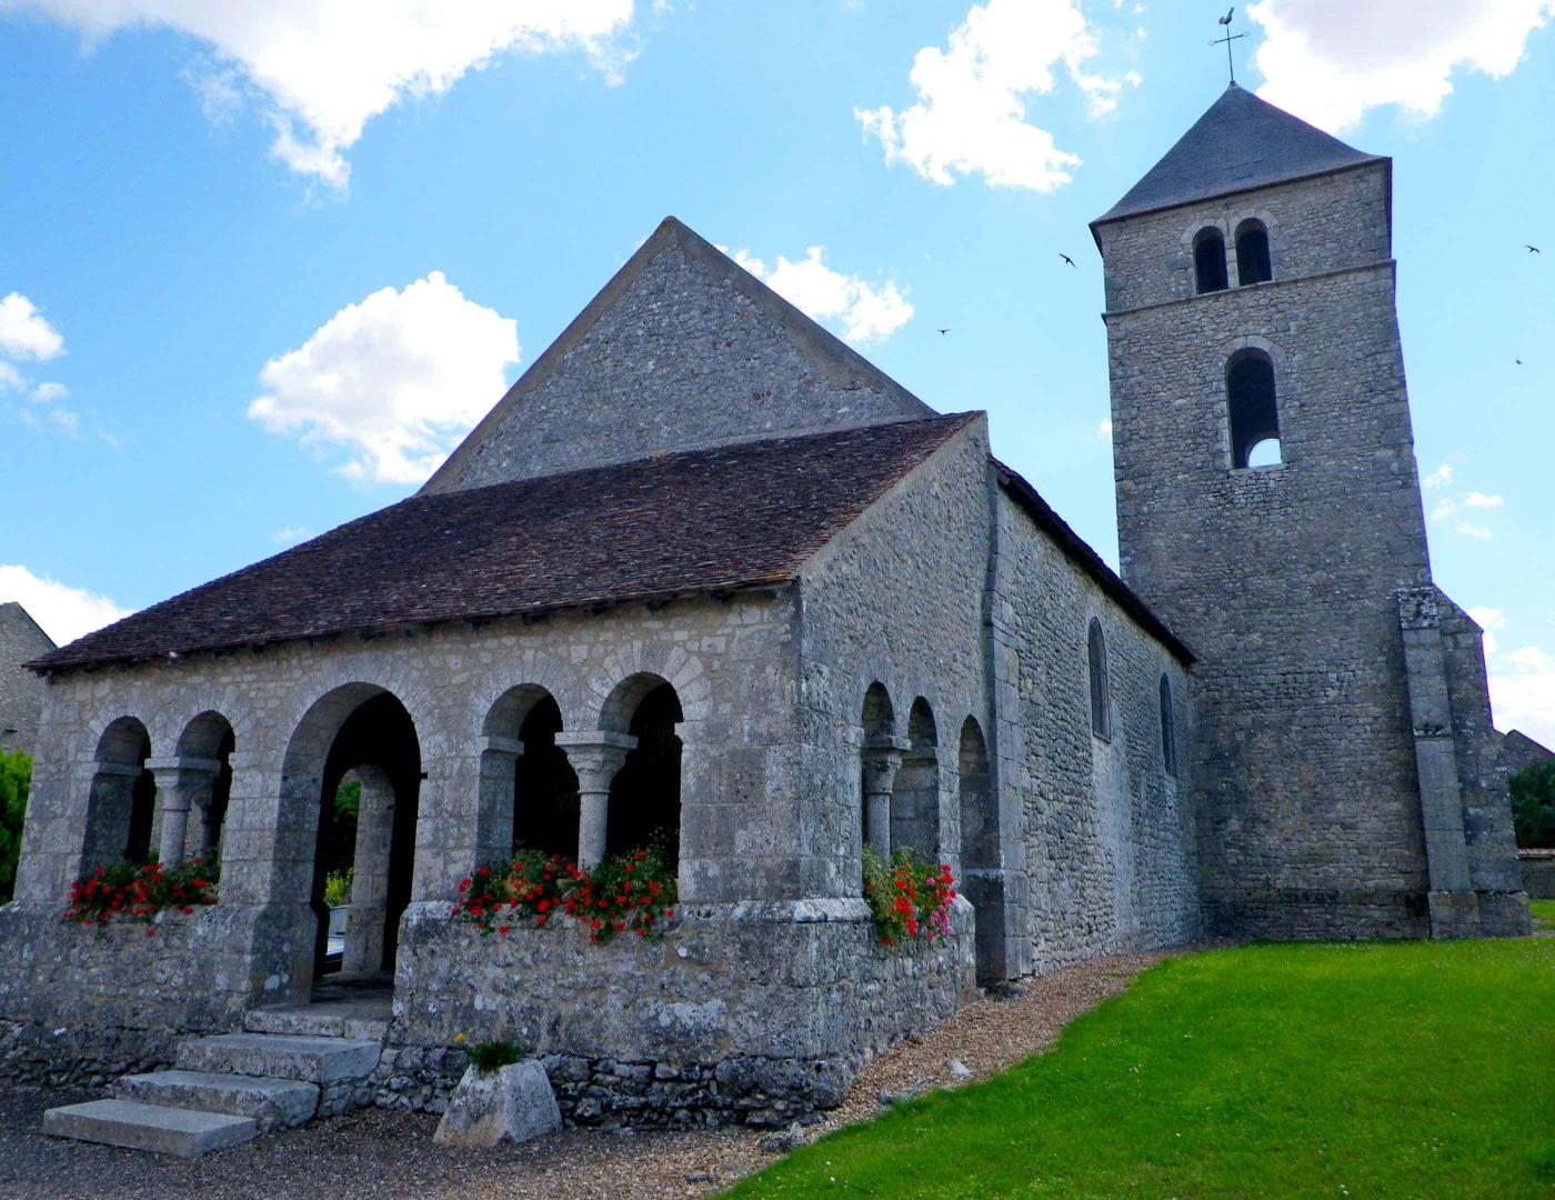
POLYGON ((44 1133, 197 1158, 372 1100, 389 1015, 378 1002, 255 1009, 241 1033, 191 1038, 169 1071, 44 1113, 44 1133))

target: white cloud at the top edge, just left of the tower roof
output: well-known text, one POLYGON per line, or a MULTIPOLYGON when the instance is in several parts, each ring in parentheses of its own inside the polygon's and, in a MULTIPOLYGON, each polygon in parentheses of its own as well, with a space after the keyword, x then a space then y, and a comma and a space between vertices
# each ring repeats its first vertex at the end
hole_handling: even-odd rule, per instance
POLYGON ((902 160, 949 187, 981 174, 991 187, 1053 191, 1070 182, 1079 157, 1026 120, 1026 101, 1057 86, 1054 68, 1090 98, 1093 115, 1116 107, 1138 78, 1087 73, 1096 37, 1075 0, 987 0, 973 5, 949 44, 924 47, 908 76, 917 103, 855 107, 865 135, 880 139, 885 160, 902 160))

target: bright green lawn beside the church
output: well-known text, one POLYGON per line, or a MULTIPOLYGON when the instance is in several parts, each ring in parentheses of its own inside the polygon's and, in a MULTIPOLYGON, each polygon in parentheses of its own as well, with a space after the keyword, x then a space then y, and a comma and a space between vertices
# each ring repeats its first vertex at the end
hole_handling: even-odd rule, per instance
POLYGON ((1549 1200, 1552 1066, 1552 939, 1213 951, 731 1195, 1549 1200))

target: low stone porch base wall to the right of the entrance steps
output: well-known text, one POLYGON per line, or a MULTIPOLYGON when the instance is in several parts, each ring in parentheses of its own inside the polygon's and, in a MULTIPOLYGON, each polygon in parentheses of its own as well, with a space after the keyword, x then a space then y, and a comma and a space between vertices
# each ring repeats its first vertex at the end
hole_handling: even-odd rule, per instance
POLYGON ((578 1124, 782 1124, 972 998, 964 900, 952 926, 888 949, 861 900, 683 906, 662 939, 592 945, 577 928, 480 937, 415 904, 376 1102, 437 1111, 463 1033, 535 1052, 578 1124))

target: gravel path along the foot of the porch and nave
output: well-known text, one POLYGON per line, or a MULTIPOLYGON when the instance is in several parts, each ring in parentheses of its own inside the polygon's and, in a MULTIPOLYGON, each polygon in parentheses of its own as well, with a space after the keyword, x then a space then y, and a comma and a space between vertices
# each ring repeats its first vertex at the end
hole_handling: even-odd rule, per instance
MULTIPOLYGON (((1008 998, 984 998, 866 1063, 841 1108, 810 1118, 813 1124, 799 1132, 813 1139, 877 1116, 882 1089, 953 1083, 952 1058, 972 1077, 1003 1071, 1050 1046, 1065 1024, 1126 990, 1135 974, 1163 957, 1151 953, 1098 959, 1028 982, 1008 998)), ((745 1128, 636 1135, 572 1130, 522 1147, 445 1150, 432 1146, 437 1118, 378 1108, 260 1138, 196 1163, 58 1141, 37 1132, 45 1108, 84 1099, 92 1093, 0 1085, 0 1197, 652 1200, 709 1195, 771 1161, 757 1146, 760 1135, 745 1128)))

